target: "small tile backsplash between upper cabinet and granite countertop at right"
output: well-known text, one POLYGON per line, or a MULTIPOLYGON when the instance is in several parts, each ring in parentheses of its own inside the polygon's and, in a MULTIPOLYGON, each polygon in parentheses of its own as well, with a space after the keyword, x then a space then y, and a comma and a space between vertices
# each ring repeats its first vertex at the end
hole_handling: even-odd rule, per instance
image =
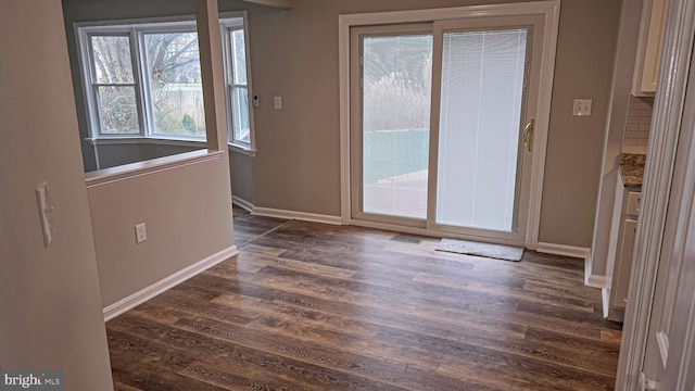
POLYGON ((626 135, 622 139, 622 152, 647 152, 653 110, 654 98, 630 96, 626 135))

